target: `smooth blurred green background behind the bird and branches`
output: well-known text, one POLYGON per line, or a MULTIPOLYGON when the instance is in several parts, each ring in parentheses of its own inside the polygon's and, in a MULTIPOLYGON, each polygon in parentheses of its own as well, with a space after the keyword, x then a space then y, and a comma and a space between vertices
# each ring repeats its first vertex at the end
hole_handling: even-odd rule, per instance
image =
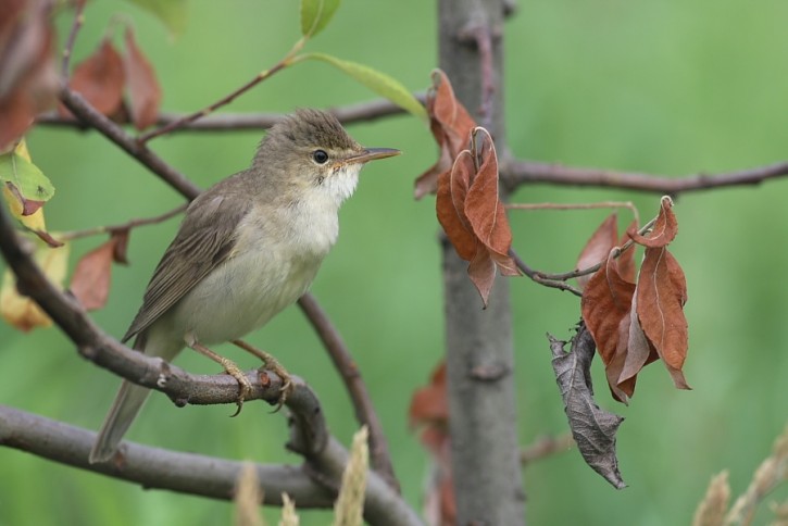
MULTIPOLYGON (((788 3, 743 0, 531 0, 505 29, 508 137, 517 156, 579 166, 685 175, 785 160, 788 145, 788 3)), ((297 2, 239 0, 188 4, 177 39, 125 2, 90 2, 75 61, 92 52, 110 18, 134 21, 152 58, 167 111, 213 102, 274 64, 299 36, 297 2)), ((424 0, 346 0, 309 49, 389 73, 424 89, 436 65, 436 7, 424 0)), ((58 18, 61 41, 71 16, 58 18)), ((468 64, 468 67, 476 67, 468 64)), ((329 66, 300 64, 227 111, 291 111, 375 98, 329 66)), ((421 506, 428 458, 408 427, 408 406, 442 355, 443 322, 434 201, 412 199, 413 179, 435 160, 425 126, 397 116, 353 125, 362 143, 404 155, 367 167, 341 212, 341 236, 313 291, 342 331, 372 390, 404 494, 421 506)), ((205 187, 247 166, 260 133, 178 134, 153 142, 167 162, 205 187)), ((58 193, 50 229, 66 230, 159 214, 182 202, 96 133, 40 127, 28 136, 34 161, 58 193)), ((788 419, 786 284, 788 181, 681 197, 673 252, 689 285, 695 390, 678 391, 660 363, 646 370, 629 408, 615 404, 595 363, 598 400, 624 416, 618 458, 629 488, 615 491, 576 451, 525 471, 534 525, 688 524, 710 477, 730 469, 746 486, 788 419), (568 504, 568 505, 567 505, 568 504)), ((634 200, 646 218, 659 196, 548 186, 522 188, 521 202, 634 200)), ((531 265, 567 271, 605 212, 516 212, 515 248, 531 265)), ((628 217, 627 217, 628 220, 628 217)), ((93 314, 121 336, 177 220, 134 231, 129 267, 116 267, 109 304, 93 314)), ((72 259, 102 242, 75 243, 72 259)), ((578 301, 513 279, 520 438, 566 430, 545 333, 570 336, 578 301)), ((305 378, 324 402, 333 433, 357 429, 348 398, 312 329, 289 309, 249 338, 305 378)), ((78 358, 57 329, 29 335, 0 325, 0 401, 98 428, 117 379, 78 358)), ((243 367, 253 361, 220 349, 243 367)), ((216 367, 195 353, 178 365, 216 367)), ((229 406, 176 410, 154 396, 132 440, 258 462, 298 463, 284 451, 286 425, 264 404, 237 418, 229 406)), ((785 499, 783 488, 775 498, 785 499)), ((266 510, 273 519, 277 511, 266 510)), ((145 491, 137 486, 0 448, 0 524, 227 524, 230 504, 145 491)), ((768 513, 759 514, 761 524, 768 513)), ((302 524, 327 524, 304 512, 302 524)))

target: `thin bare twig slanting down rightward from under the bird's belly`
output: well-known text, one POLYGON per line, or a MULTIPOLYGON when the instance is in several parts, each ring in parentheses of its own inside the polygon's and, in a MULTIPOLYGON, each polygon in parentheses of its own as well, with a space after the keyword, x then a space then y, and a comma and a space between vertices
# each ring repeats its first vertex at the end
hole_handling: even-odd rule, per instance
POLYGON ((399 492, 400 487, 391 464, 386 435, 383 433, 380 419, 373 408, 366 384, 359 374, 359 368, 355 366, 348 347, 313 296, 303 296, 298 304, 320 336, 334 366, 342 377, 350 400, 353 402, 357 419, 360 424, 366 425, 370 430, 370 456, 373 468, 399 492))

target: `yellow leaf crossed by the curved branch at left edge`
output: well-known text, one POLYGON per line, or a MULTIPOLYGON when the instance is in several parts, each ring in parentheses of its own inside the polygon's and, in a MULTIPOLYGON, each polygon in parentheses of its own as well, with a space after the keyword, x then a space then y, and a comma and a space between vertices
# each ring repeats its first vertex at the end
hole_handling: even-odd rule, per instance
MULTIPOLYGON (((35 243, 33 258, 36 263, 52 283, 62 287, 68 262, 68 245, 53 249, 40 240, 35 243)), ((52 325, 52 321, 35 301, 16 291, 16 278, 9 270, 5 271, 0 287, 0 315, 10 325, 24 331, 52 325)))

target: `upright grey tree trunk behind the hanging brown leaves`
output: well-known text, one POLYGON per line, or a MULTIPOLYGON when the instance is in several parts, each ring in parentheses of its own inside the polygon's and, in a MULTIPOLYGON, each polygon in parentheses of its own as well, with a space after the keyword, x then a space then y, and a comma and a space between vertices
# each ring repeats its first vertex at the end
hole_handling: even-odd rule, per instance
MULTIPOLYGON (((502 151, 503 2, 439 0, 438 4, 440 67, 456 98, 502 151), (486 38, 488 49, 479 45, 486 38)), ((509 280, 497 278, 483 310, 466 270, 467 262, 443 243, 456 524, 524 524, 509 280)))

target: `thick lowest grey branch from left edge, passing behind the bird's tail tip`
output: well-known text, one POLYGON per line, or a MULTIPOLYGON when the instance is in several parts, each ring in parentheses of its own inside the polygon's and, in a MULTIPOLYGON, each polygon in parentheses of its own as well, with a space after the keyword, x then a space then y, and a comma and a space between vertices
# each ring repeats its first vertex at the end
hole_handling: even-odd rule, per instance
MULTIPOLYGON (((235 381, 235 380, 234 380, 235 381)), ((212 499, 230 500, 242 462, 192 453, 180 453, 124 442, 124 462, 88 463, 96 434, 42 416, 0 405, 0 444, 33 453, 112 478, 139 484, 145 488, 168 489, 212 499)), ((339 480, 348 453, 329 440, 320 453, 308 456, 332 480, 339 480)), ((286 492, 301 509, 330 508, 336 492, 316 481, 302 467, 257 465, 258 478, 266 504, 282 505, 286 492)), ((379 477, 368 475, 364 516, 373 524, 421 524, 411 510, 379 477)))

